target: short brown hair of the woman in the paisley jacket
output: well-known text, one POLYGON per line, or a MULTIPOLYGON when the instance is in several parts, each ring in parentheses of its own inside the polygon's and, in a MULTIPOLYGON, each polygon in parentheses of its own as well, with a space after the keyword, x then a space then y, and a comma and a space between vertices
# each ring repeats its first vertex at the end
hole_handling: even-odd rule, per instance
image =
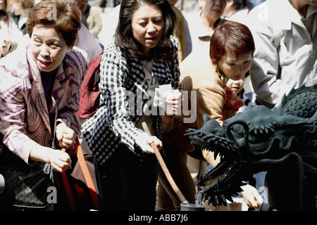
POLYGON ((73 46, 80 29, 80 11, 75 4, 63 0, 45 0, 33 6, 27 17, 27 34, 32 35, 36 25, 45 25, 61 32, 67 46, 73 46), (54 8, 52 8, 54 6, 54 8), (56 18, 49 18, 52 11, 56 18))

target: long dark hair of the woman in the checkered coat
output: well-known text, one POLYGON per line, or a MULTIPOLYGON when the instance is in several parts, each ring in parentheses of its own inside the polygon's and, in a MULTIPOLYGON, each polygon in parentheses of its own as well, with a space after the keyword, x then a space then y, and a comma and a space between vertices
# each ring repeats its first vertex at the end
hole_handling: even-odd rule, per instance
POLYGON ((175 13, 167 0, 123 0, 120 6, 118 27, 115 43, 134 58, 144 57, 144 51, 139 42, 133 37, 132 16, 143 5, 154 6, 163 14, 164 30, 161 41, 154 48, 157 58, 170 58, 170 35, 173 34, 175 13))

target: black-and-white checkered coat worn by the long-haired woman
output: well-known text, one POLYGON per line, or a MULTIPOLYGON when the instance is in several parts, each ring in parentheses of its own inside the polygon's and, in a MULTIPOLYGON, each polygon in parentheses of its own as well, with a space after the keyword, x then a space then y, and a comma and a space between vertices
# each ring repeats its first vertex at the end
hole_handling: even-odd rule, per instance
MULTIPOLYGON (((181 89, 178 82, 177 41, 171 37, 173 60, 154 60, 152 76, 159 84, 172 84, 173 89, 181 89)), ((139 152, 135 137, 142 132, 135 124, 142 117, 142 108, 148 101, 148 89, 142 65, 136 59, 128 60, 122 51, 110 44, 101 60, 101 80, 99 83, 100 108, 87 122, 82 124, 82 135, 95 158, 103 165, 111 154, 124 143, 134 153, 139 152), (127 94, 128 93, 128 94, 127 94)), ((161 139, 161 116, 155 116, 156 134, 161 139)))

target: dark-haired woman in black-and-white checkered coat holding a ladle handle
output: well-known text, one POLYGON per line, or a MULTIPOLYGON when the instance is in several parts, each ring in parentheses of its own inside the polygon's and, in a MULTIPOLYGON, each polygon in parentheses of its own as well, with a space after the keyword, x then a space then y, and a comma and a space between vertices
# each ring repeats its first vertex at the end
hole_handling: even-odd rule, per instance
POLYGON ((175 14, 166 0, 123 0, 115 41, 101 60, 100 108, 82 125, 97 160, 104 210, 154 210, 159 164, 150 143, 161 143, 155 89, 170 84, 180 107, 175 14), (141 123, 147 122, 147 135, 141 123))

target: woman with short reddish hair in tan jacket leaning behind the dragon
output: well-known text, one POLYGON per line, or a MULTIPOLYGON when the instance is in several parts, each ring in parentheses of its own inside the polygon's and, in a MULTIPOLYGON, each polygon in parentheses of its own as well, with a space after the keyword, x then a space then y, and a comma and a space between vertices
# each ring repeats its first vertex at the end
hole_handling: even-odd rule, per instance
MULTIPOLYGON (((184 134, 188 128, 203 127, 203 115, 208 115, 209 119, 223 125, 228 79, 243 79, 251 66, 254 49, 254 40, 248 27, 228 21, 216 27, 208 53, 194 51, 180 63, 184 103, 190 105, 194 120, 187 120, 192 115, 184 110, 181 115, 172 115, 169 117, 170 120, 165 120, 163 136, 166 136, 166 143, 190 152, 193 150, 192 145, 188 136, 184 134)), ((213 153, 206 150, 201 150, 201 155, 196 157, 208 162, 211 167, 216 167, 220 160, 219 157, 214 160, 213 153)), ((246 188, 247 203, 259 207, 259 193, 250 186, 242 188, 246 188)))

